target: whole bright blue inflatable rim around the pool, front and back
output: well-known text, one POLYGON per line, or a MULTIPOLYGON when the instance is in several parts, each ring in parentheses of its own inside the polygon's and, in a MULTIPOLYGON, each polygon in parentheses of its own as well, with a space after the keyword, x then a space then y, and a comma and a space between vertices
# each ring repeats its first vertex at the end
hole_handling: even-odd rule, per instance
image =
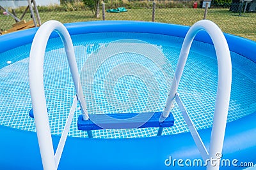
MULTIPOLYGON (((102 21, 65 24, 70 34, 90 32, 147 32, 184 37, 189 27, 152 22, 102 21)), ((35 29, 0 36, 0 52, 31 43, 35 29)), ((52 34, 52 38, 58 36, 52 34)), ((256 43, 225 34, 230 50, 255 60, 256 43)), ((196 40, 211 43, 205 32, 196 40)), ((223 159, 256 164, 256 113, 227 124, 223 159)), ((211 128, 198 131, 207 148, 211 128)), ((0 125, 0 169, 43 169, 35 132, 0 125)), ((52 136, 54 150, 60 136, 52 136)), ((189 132, 131 139, 67 138, 59 169, 205 169, 205 167, 165 166, 164 160, 201 159, 189 132)), ((220 169, 244 169, 221 167, 220 169)))

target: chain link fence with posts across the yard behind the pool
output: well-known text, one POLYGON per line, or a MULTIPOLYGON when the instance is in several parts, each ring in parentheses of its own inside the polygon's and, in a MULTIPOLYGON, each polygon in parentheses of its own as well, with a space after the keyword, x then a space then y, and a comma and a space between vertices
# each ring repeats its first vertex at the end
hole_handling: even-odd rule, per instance
MULTIPOLYGON (((105 0, 104 3, 99 1, 98 18, 95 17, 92 6, 85 5, 83 1, 77 0, 61 1, 60 5, 38 6, 38 11, 42 23, 47 20, 59 20, 63 23, 92 20, 139 20, 150 22, 153 20, 154 22, 193 25, 196 21, 206 18, 218 24, 223 32, 256 41, 256 1, 253 0, 251 3, 249 1, 235 1, 233 0, 233 3, 221 3, 221 0, 215 0, 215 2, 105 0), (209 6, 207 11, 205 10, 206 5, 209 6), (127 11, 118 12, 119 7, 124 7, 127 11), (109 10, 112 12, 107 12, 109 10)), ((8 8, 6 10, 20 18, 26 10, 26 6, 16 9, 8 8)), ((32 20, 29 10, 22 20, 32 20)), ((12 28, 13 24, 15 24, 15 19, 10 15, 6 15, 6 11, 2 9, 0 13, 1 31, 12 28)))

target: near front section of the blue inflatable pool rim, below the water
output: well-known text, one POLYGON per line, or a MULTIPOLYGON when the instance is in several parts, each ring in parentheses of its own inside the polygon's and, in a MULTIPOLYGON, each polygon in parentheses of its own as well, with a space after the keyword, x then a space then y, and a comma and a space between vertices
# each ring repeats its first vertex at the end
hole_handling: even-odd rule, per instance
MULTIPOLYGON (((256 113, 227 124, 222 159, 256 164, 256 113)), ((198 131, 209 148, 211 128, 198 131)), ((1 169, 43 169, 35 132, 0 125, 1 169)), ((60 136, 52 136, 54 150, 60 136)), ((152 138, 84 139, 67 138, 59 169, 205 169, 165 166, 164 160, 201 159, 189 132, 152 138)), ((244 169, 244 167, 220 167, 244 169)))

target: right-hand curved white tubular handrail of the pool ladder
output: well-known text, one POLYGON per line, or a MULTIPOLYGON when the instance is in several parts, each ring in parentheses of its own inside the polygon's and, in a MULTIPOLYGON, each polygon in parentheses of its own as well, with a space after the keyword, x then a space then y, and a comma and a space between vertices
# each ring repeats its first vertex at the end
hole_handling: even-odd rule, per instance
MULTIPOLYGON (((164 118, 168 117, 170 111, 172 110, 172 104, 175 99, 175 94, 179 86, 180 77, 186 64, 186 60, 188 59, 191 44, 196 34, 201 30, 206 31, 211 37, 218 60, 218 89, 215 101, 209 158, 219 160, 220 158, 216 156, 216 154, 221 154, 223 148, 225 128, 227 124, 228 105, 230 100, 232 67, 227 40, 225 39, 223 32, 216 24, 214 24, 214 22, 209 20, 200 20, 192 25, 186 34, 182 48, 180 50, 175 77, 172 81, 172 86, 166 101, 166 106, 164 106, 162 118, 159 121, 162 122, 164 118)), ((163 131, 163 129, 159 129, 157 135, 161 134, 161 131, 163 131)), ((208 165, 207 169, 218 169, 218 166, 214 167, 208 165)))

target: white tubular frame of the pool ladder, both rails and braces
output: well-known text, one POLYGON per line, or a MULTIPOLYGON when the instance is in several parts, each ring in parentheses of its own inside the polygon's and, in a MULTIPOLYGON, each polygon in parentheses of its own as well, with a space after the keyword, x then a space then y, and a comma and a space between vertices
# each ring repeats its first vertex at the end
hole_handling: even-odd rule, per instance
MULTIPOLYGON (((76 110, 77 101, 79 101, 80 103, 81 111, 83 113, 83 119, 88 120, 89 118, 86 103, 83 98, 83 90, 81 87, 81 83, 79 82, 79 72, 77 69, 72 40, 70 38, 70 35, 68 34, 67 29, 60 22, 45 22, 36 32, 29 56, 29 86, 31 92, 33 113, 35 117, 36 134, 38 137, 38 143, 42 157, 42 164, 44 166, 44 169, 58 169, 61 153, 67 139, 70 124, 74 116, 74 111, 76 110), (45 48, 47 45, 47 41, 53 31, 57 31, 58 34, 60 34, 61 39, 64 43, 65 52, 67 53, 68 58, 68 64, 72 73, 72 78, 77 94, 76 97, 74 97, 74 102, 72 104, 70 114, 68 115, 64 131, 61 134, 61 139, 55 155, 52 146, 51 129, 47 114, 43 76, 45 48)), ((202 158, 204 160, 210 158, 218 159, 218 157, 216 157, 216 153, 221 154, 223 147, 230 90, 231 60, 227 41, 220 28, 218 28, 218 26, 213 22, 209 20, 202 20, 196 22, 196 24, 194 24, 189 29, 188 34, 184 39, 184 43, 180 52, 179 62, 177 64, 177 70, 175 72, 175 78, 173 79, 172 87, 162 114, 163 118, 161 118, 161 120, 159 121, 162 122, 166 117, 168 117, 170 111, 172 110, 173 101, 175 99, 175 101, 180 106, 182 115, 184 116, 186 123, 188 124, 189 130, 193 136, 193 139, 195 140, 196 146, 198 146, 198 150, 200 151, 202 158), (204 143, 202 143, 202 140, 200 139, 200 136, 196 131, 195 125, 193 125, 193 122, 189 118, 189 115, 186 112, 186 108, 180 101, 179 96, 177 95, 177 88, 179 86, 180 77, 188 57, 191 43, 200 30, 207 31, 211 36, 214 46, 216 48, 216 55, 218 59, 218 90, 216 96, 209 153, 207 152, 204 143)), ((163 129, 160 128, 157 134, 161 135, 162 131, 163 129)), ((92 133, 90 131, 88 131, 88 136, 92 136, 92 133)), ((219 169, 219 166, 211 166, 211 164, 208 164, 207 169, 219 169)))

